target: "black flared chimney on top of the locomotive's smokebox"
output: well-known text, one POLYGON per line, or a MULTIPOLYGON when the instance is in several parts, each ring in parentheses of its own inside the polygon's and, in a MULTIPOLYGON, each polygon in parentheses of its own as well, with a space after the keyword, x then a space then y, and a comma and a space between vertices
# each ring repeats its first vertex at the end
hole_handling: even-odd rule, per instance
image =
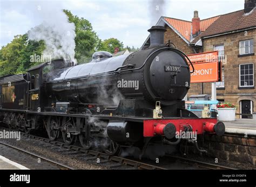
POLYGON ((150 32, 150 47, 164 45, 164 32, 166 31, 164 26, 152 26, 147 31, 150 32))

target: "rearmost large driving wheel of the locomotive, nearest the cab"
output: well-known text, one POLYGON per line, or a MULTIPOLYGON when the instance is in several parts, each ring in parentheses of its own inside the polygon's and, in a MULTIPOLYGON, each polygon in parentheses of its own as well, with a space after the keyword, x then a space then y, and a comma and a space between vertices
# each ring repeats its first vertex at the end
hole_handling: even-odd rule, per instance
POLYGON ((59 136, 59 125, 56 117, 49 117, 47 122, 47 133, 50 140, 56 140, 59 136))

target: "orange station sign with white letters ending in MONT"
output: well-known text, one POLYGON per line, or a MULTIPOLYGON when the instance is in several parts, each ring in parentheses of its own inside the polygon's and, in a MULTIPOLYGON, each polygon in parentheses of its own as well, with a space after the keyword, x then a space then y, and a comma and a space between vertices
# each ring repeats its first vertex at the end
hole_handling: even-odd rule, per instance
MULTIPOLYGON (((191 83, 218 82, 221 75, 218 62, 218 51, 187 55, 194 66, 191 83)), ((193 70, 190 66, 190 70, 193 70)))

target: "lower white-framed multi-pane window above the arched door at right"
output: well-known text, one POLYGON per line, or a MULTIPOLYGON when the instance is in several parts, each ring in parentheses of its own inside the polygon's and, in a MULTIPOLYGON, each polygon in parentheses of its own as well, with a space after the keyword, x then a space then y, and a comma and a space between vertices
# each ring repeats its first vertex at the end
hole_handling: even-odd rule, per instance
POLYGON ((252 87, 254 85, 253 63, 240 64, 240 87, 252 87))

